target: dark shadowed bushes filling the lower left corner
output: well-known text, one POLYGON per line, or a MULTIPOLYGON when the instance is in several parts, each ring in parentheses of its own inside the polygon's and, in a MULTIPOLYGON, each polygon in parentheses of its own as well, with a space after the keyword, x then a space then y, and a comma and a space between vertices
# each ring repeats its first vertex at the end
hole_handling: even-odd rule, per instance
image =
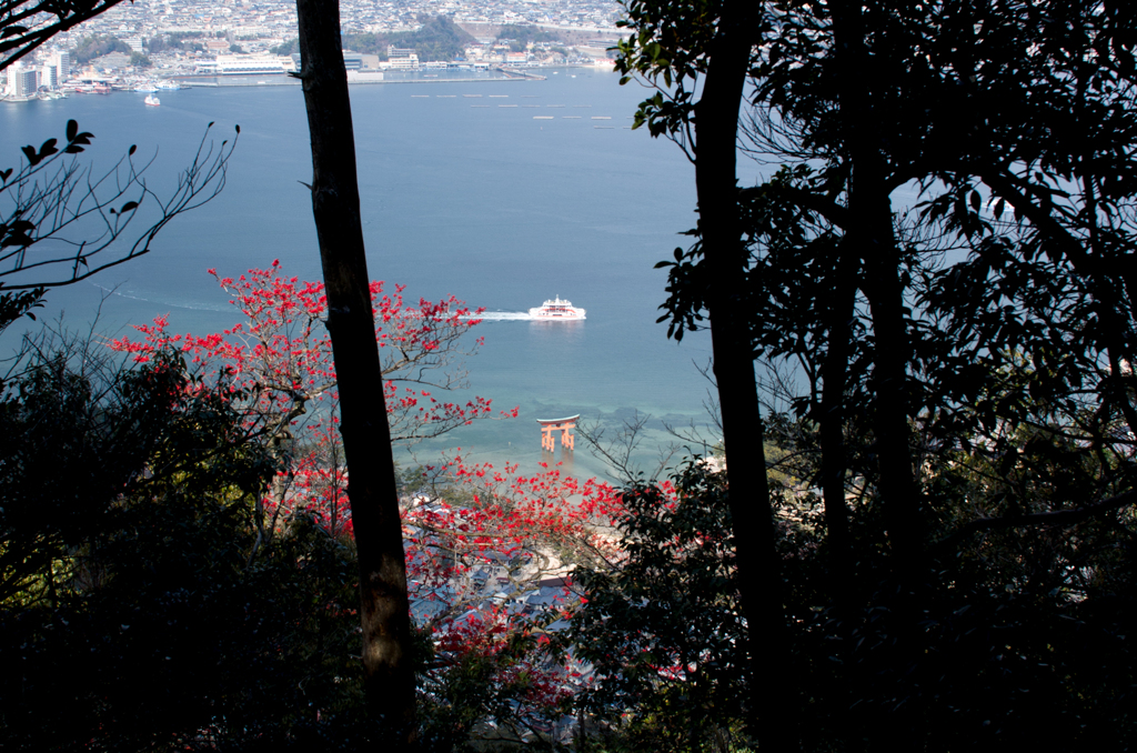
POLYGON ((3 404, 0 728, 13 750, 273 750, 358 721, 357 571, 310 521, 256 546, 274 462, 173 357, 35 364, 3 404))

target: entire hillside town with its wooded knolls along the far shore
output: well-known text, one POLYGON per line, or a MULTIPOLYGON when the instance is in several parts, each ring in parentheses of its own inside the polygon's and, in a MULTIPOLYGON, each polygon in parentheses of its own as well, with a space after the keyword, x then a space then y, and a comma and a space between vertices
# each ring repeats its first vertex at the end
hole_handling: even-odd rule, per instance
MULTIPOLYGON (((620 7, 611 0, 347 0, 340 9, 355 83, 383 82, 388 72, 611 66, 620 39, 620 7)), ((289 83, 299 65, 296 39, 296 5, 287 0, 136 0, 0 72, 0 100, 289 83), (256 81, 240 78, 248 76, 256 81)))

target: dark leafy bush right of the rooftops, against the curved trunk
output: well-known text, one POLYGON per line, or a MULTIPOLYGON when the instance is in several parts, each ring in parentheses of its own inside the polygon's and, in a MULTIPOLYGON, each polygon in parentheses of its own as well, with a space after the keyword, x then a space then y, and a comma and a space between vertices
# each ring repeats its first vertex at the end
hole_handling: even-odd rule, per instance
POLYGON ((690 464, 674 489, 628 489, 617 522, 626 560, 573 573, 584 604, 564 639, 596 672, 576 704, 625 750, 714 750, 744 715, 745 624, 725 478, 690 464))

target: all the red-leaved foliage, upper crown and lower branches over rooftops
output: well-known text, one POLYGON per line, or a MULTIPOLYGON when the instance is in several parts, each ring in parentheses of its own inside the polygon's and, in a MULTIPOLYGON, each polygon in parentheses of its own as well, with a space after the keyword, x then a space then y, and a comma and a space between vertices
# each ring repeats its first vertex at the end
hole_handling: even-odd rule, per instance
MULTIPOLYGON (((236 279, 209 273, 243 321, 196 336, 172 333, 159 316, 135 328, 140 338, 111 347, 138 362, 174 348, 227 386, 248 438, 280 463, 257 506, 256 547, 297 513, 337 538, 354 537, 323 286, 284 278, 279 262, 236 279)), ((433 394, 462 383, 456 365, 481 345, 464 338, 480 311, 453 297, 408 305, 402 287, 388 292, 380 282, 371 292, 392 437, 414 442, 491 417, 489 399, 459 404, 433 394)), ((491 689, 443 720, 450 734, 467 734, 475 718, 499 720, 500 733, 506 715, 515 734, 547 731, 542 720, 572 681, 545 651, 546 628, 572 603, 571 566, 620 561, 611 535, 623 510, 617 490, 556 466, 524 475, 514 464, 471 464, 460 455, 424 469, 422 482, 401 516, 413 611, 433 644, 423 689, 445 700, 471 673, 491 689)))

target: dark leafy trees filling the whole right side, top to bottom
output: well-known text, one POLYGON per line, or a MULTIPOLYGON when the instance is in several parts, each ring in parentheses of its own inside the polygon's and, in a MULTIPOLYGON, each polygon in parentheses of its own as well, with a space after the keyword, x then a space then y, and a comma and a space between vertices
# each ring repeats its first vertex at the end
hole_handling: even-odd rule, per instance
MULTIPOLYGON (((1122 531, 1132 524, 1134 188, 1123 156, 1135 135, 1132 15, 1095 2, 744 5, 630 2, 632 35, 617 65, 659 86, 637 125, 673 138, 696 164, 697 242, 664 263, 663 318, 675 337, 707 323, 719 332, 731 496, 762 497, 745 478, 764 457, 745 436, 756 417, 747 414, 744 432, 727 421, 757 388, 750 361, 760 358, 796 370, 766 395, 791 420, 767 420, 779 441, 812 458, 797 475, 823 502, 824 585, 808 598, 824 603, 813 609, 830 627, 819 629, 845 670, 831 685, 798 684, 816 661, 808 651, 772 668, 781 697, 755 698, 752 713, 778 727, 752 729, 764 730, 764 745, 797 750, 816 715, 812 729, 795 720, 819 693, 832 742, 945 738, 952 725, 929 711, 948 695, 957 722, 986 714, 984 725, 954 727, 969 745, 1040 734, 1030 720, 1047 704, 1063 709, 1061 733, 1049 734, 1069 745, 1096 735, 1086 720, 1099 714, 1126 723, 1110 715, 1119 713, 1110 693, 1051 686, 1038 706, 1010 692, 1013 701, 996 703, 997 684, 972 685, 994 682, 995 665, 929 644, 927 626, 945 636, 970 619, 1001 626, 1021 643, 988 631, 969 645, 996 664, 1013 649, 1021 667, 1036 655, 1029 610, 1006 620, 1028 603, 1039 610, 1036 628, 1063 646, 1052 657, 1063 667, 1085 657, 1061 637, 1061 619, 1111 636, 1109 645, 1123 640, 1128 555, 1078 570, 1110 584, 1094 596, 1062 563, 1128 551, 1122 531), (736 140, 780 167, 737 187, 736 140), (896 205, 901 188, 919 195, 915 206, 896 205), (991 554, 1003 546, 1019 554, 991 554), (991 556, 1004 568, 1029 562, 1032 574, 1012 586, 1007 569, 969 572, 991 556), (1071 590, 1079 596, 1056 596, 1071 590), (888 619, 873 620, 875 610, 888 619), (854 651, 883 645, 894 648, 872 659, 854 651), (929 659, 948 655, 970 673, 929 659), (871 681, 856 669, 870 664, 871 681), (873 700, 872 687, 883 695, 873 700), (865 731, 874 725, 881 731, 865 731)), ((744 609, 750 626, 763 624, 757 645, 770 645, 782 628, 761 621, 777 612, 796 632, 810 622, 806 602, 795 593, 783 606, 748 603, 747 580, 796 588, 798 565, 748 565, 747 537, 767 554, 780 545, 772 552, 765 521, 740 520, 733 503, 744 609)), ((1093 663, 1106 671, 1110 661, 1093 663)), ((1124 665, 1114 679, 1129 688, 1124 665)), ((1044 685, 1031 676, 1021 687, 1034 682, 1044 685)))

